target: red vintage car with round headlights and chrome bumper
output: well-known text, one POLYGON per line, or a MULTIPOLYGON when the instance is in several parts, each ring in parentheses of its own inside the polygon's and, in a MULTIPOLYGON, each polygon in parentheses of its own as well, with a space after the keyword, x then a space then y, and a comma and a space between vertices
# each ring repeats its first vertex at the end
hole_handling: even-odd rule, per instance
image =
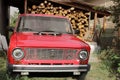
POLYGON ((90 70, 90 46, 76 33, 65 17, 21 14, 10 38, 8 71, 73 73, 80 79, 90 70))

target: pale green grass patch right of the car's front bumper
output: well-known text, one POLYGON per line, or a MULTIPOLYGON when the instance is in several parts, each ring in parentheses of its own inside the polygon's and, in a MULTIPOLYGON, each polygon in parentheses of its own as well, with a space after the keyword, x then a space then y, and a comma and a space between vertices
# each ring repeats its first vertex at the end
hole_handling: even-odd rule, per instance
POLYGON ((106 70, 102 62, 92 62, 91 70, 88 73, 86 80, 115 80, 113 76, 106 70))

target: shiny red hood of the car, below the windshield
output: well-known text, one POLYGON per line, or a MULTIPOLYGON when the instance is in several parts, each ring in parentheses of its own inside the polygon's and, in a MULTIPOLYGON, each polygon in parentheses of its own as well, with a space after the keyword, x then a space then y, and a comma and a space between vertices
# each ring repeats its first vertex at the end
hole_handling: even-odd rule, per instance
POLYGON ((61 35, 35 35, 33 33, 17 33, 18 47, 42 47, 42 48, 84 48, 88 44, 76 38, 72 34, 61 35))

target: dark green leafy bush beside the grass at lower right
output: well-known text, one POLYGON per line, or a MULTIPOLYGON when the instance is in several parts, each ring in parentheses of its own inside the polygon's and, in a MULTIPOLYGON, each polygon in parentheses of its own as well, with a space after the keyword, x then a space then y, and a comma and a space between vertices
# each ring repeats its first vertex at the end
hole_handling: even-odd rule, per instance
POLYGON ((110 71, 110 73, 116 75, 116 77, 120 77, 119 51, 115 51, 114 49, 103 50, 99 57, 106 65, 106 68, 110 71))

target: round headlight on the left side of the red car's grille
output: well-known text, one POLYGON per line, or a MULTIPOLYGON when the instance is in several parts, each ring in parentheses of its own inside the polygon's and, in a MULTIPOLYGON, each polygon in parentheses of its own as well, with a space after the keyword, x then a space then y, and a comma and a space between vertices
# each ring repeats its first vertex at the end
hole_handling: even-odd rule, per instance
POLYGON ((21 49, 15 49, 12 53, 14 59, 20 60, 24 57, 24 52, 21 49))

